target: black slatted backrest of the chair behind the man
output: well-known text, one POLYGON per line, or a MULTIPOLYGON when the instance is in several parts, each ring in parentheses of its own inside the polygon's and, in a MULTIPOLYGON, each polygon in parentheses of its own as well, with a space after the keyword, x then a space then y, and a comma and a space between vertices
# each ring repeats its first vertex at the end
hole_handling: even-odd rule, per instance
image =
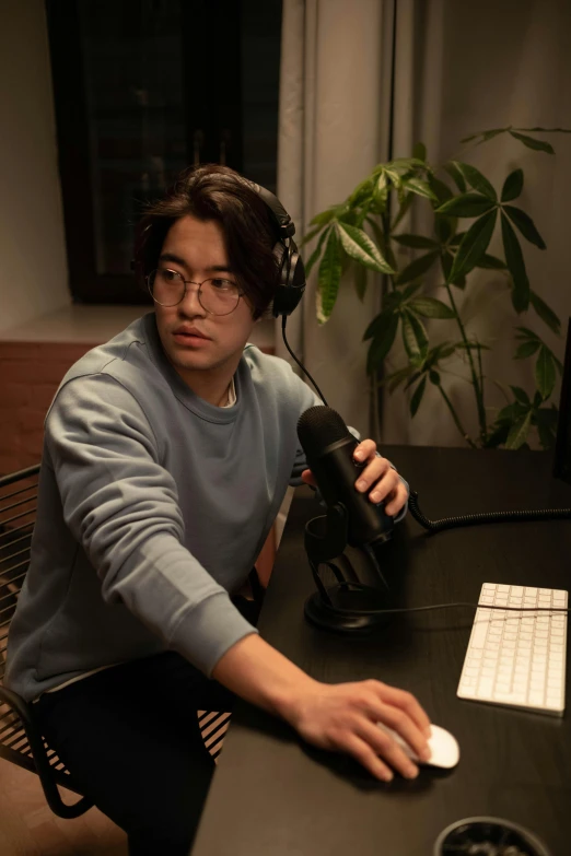
POLYGON ((0 478, 0 682, 8 630, 30 564, 39 465, 0 478))

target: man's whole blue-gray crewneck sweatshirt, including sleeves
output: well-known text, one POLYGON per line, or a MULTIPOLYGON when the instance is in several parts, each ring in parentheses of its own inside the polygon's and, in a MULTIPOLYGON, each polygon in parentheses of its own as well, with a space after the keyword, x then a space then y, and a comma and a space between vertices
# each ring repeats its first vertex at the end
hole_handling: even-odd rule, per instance
POLYGON ((255 632, 230 595, 306 466, 296 422, 319 401, 254 345, 234 383, 230 408, 198 398, 152 313, 63 378, 9 635, 5 683, 24 699, 165 649, 210 675, 255 632))

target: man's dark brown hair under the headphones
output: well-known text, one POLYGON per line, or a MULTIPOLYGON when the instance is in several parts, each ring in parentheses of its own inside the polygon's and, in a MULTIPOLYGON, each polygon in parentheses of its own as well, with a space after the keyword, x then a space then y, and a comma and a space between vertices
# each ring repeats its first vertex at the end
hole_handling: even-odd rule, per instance
POLYGON ((215 220, 224 233, 230 266, 259 318, 273 300, 278 263, 273 255, 277 225, 250 184, 228 166, 207 164, 185 171, 166 196, 149 206, 135 241, 135 272, 145 289, 166 234, 179 218, 215 220))

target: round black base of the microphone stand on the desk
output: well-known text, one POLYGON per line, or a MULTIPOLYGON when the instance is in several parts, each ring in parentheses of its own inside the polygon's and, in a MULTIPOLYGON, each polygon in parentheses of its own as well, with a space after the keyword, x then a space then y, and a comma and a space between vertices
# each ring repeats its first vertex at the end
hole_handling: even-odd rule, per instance
POLYGON ((391 621, 391 614, 371 614, 369 610, 386 608, 386 594, 370 586, 339 584, 327 589, 331 603, 319 591, 305 601, 307 621, 319 630, 351 635, 368 635, 391 621))

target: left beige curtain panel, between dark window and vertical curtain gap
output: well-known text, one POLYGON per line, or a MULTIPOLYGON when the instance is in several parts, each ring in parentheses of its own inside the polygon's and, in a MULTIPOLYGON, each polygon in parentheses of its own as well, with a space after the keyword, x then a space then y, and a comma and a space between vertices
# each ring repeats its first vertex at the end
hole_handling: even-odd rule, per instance
MULTIPOLYGON (((283 2, 278 196, 300 237, 386 150, 392 8, 382 0, 283 2)), ((343 282, 331 319, 318 326, 314 272, 303 306, 288 321, 289 341, 328 403, 365 433, 370 396, 361 339, 377 305, 378 283, 361 304, 343 282)), ((287 356, 279 329, 276 340, 287 356)))

